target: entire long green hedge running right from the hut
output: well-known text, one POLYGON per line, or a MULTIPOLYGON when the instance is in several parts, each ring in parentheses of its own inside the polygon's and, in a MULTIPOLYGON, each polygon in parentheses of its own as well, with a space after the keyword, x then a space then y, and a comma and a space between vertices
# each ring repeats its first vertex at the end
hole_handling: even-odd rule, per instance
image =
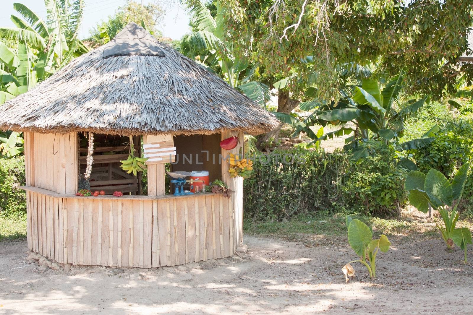
POLYGON ((274 153, 269 161, 257 154, 254 178, 243 181, 246 219, 281 220, 320 211, 395 217, 405 204, 405 175, 394 168, 390 149, 358 162, 340 151, 274 153), (297 158, 282 163, 277 155, 297 158))

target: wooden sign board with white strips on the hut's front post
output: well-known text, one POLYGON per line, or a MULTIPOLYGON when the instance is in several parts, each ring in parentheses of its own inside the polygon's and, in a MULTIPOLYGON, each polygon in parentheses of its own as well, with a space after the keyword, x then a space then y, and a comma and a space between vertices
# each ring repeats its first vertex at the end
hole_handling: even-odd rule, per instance
POLYGON ((172 135, 147 135, 143 137, 147 165, 175 162, 176 147, 172 135))

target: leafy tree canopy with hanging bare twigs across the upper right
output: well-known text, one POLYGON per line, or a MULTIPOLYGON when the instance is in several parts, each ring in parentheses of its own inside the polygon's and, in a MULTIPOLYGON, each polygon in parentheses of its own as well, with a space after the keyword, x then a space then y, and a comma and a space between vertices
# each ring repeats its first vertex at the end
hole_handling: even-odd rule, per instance
MULTIPOLYGON (((220 1, 220 0, 219 0, 220 1)), ((375 65, 377 77, 405 71, 406 88, 442 96, 471 81, 473 2, 464 0, 221 0, 233 53, 267 73, 311 79, 317 96, 339 96, 343 64, 375 65), (468 52, 471 53, 471 52, 468 52)), ((289 89, 296 89, 295 86, 289 89)))

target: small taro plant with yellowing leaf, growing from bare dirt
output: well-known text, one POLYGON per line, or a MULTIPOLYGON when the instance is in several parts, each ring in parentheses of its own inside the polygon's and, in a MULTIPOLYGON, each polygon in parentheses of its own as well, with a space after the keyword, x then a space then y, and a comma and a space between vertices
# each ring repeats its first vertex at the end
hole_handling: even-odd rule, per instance
POLYGON ((351 263, 362 263, 368 269, 371 280, 376 279, 376 256, 378 251, 386 253, 389 250, 391 242, 383 234, 377 239, 373 239, 371 228, 361 222, 359 219, 346 217, 348 227, 348 243, 355 253, 359 256, 358 260, 353 260, 343 266, 342 271, 345 274, 345 280, 348 282, 349 276, 355 275, 355 270, 351 263))

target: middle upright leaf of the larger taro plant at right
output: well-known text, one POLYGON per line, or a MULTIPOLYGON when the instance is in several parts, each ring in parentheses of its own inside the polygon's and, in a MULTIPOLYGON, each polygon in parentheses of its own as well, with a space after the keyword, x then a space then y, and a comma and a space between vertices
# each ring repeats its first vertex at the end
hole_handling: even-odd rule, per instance
POLYGON ((430 203, 435 206, 452 205, 452 185, 447 177, 436 169, 430 169, 425 176, 424 190, 429 196, 430 203))

